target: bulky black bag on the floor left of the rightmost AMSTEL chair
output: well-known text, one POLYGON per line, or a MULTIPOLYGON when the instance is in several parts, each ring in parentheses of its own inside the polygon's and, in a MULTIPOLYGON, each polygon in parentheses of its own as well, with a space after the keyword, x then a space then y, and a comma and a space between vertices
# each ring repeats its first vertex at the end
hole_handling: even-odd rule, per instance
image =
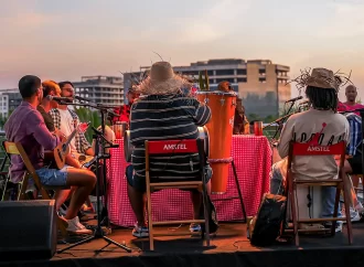
POLYGON ((287 197, 278 194, 265 194, 256 216, 250 243, 254 246, 269 246, 280 235, 285 218, 287 197))

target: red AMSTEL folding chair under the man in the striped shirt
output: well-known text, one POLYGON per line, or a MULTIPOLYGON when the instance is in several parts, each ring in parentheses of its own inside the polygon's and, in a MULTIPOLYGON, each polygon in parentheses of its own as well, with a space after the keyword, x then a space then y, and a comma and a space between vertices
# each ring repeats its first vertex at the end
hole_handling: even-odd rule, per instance
MULTIPOLYGON (((204 152, 203 139, 189 140, 163 140, 163 141, 146 141, 146 185, 147 185, 147 211, 149 223, 149 243, 150 250, 154 250, 154 231, 153 225, 169 225, 169 224, 189 224, 189 223, 204 223, 206 232, 206 245, 210 246, 210 228, 208 228, 208 213, 207 213, 207 190, 205 183, 205 168, 206 158, 204 152), (173 149, 165 149, 173 148, 173 149), (200 175, 201 181, 176 181, 176 182, 154 182, 150 173, 150 156, 151 154, 171 154, 171 153, 199 153, 200 156, 200 175), (196 189, 202 191, 204 220, 189 220, 189 221, 167 221, 153 222, 151 211, 151 193, 156 190, 163 189, 196 189)), ((204 234, 204 233, 202 233, 204 234)))

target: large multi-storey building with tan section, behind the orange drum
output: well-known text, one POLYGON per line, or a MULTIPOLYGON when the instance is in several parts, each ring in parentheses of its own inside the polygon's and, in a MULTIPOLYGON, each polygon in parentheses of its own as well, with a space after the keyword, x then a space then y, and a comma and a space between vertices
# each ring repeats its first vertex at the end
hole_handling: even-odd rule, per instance
MULTIPOLYGON (((174 66, 173 70, 195 79, 200 72, 207 71, 211 90, 215 90, 220 82, 229 82, 243 98, 248 117, 278 116, 285 102, 291 97, 291 87, 287 84, 290 68, 269 60, 208 60, 191 63, 190 66, 174 66)), ((126 74, 125 88, 130 86, 131 81, 138 79, 141 73, 126 74)))

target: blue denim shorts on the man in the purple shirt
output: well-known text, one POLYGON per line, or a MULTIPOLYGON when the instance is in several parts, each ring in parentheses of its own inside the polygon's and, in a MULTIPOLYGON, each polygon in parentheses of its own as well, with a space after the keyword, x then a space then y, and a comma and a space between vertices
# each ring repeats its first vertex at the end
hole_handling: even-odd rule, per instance
POLYGON ((61 170, 42 168, 35 172, 39 175, 42 184, 51 186, 63 186, 66 185, 67 182, 67 168, 68 165, 63 167, 61 170))

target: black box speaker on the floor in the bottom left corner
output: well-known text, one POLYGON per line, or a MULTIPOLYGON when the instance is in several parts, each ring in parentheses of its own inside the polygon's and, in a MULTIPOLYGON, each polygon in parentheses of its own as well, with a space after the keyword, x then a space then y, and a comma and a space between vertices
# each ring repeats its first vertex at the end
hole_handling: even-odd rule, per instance
POLYGON ((0 260, 52 258, 56 245, 54 200, 0 202, 0 260))

